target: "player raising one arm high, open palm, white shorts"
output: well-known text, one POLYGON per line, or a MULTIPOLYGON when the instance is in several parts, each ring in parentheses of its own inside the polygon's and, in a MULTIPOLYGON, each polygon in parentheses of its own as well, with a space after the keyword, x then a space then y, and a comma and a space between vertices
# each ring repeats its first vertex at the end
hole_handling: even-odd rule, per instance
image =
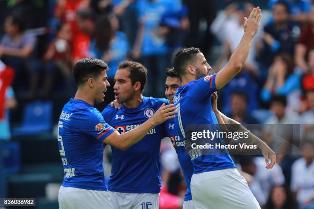
MULTIPOLYGON (((226 67, 217 74, 208 75, 211 67, 199 49, 182 49, 176 53, 174 69, 181 77, 183 86, 175 93, 174 105, 177 107, 178 117, 174 120, 181 141, 185 141, 188 124, 218 124, 211 107, 211 94, 225 86, 241 71, 252 39, 259 28, 260 19, 260 8, 254 8, 249 18, 245 18, 245 34, 238 48, 226 67)), ((218 140, 214 138, 213 142, 218 140)), ((266 168, 272 168, 276 157, 266 143, 253 137, 242 140, 246 140, 248 144, 256 144, 265 156, 266 168), (268 158, 271 159, 270 163, 268 158)), ((260 208, 228 154, 202 155, 200 150, 191 151, 191 193, 196 208, 260 208)))

